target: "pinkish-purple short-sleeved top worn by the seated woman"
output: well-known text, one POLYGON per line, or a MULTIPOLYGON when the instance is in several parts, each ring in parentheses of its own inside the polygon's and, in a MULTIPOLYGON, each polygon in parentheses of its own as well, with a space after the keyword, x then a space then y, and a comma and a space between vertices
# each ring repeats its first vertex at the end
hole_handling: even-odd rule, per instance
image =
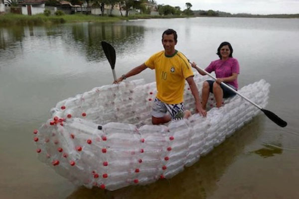
MULTIPOLYGON (((215 71, 216 78, 227 78, 232 76, 233 73, 239 74, 240 67, 239 67, 238 60, 230 57, 228 60, 225 61, 221 59, 212 61, 211 64, 205 69, 205 71, 208 73, 212 73, 213 71, 215 71)), ((235 79, 232 82, 226 82, 226 83, 238 89, 237 79, 235 79)))

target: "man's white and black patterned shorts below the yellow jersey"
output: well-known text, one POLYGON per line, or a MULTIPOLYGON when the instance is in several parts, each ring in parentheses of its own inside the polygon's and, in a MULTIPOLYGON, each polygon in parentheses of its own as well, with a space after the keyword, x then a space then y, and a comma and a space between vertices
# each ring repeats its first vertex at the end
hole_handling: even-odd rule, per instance
POLYGON ((172 120, 182 119, 184 117, 183 102, 177 104, 167 104, 155 98, 152 104, 151 115, 157 118, 163 117, 169 112, 172 120))

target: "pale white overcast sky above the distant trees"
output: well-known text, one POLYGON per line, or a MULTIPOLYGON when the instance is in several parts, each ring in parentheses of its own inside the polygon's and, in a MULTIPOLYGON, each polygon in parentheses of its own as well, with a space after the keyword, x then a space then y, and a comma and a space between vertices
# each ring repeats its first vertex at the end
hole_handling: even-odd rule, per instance
POLYGON ((299 0, 155 0, 157 4, 180 6, 186 9, 186 2, 192 10, 219 10, 224 12, 251 14, 297 14, 299 0))

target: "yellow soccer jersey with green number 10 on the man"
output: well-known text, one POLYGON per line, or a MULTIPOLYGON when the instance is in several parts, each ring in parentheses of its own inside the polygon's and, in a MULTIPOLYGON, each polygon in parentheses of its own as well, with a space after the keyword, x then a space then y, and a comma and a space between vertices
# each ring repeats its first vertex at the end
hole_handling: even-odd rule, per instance
POLYGON ((182 102, 185 79, 193 76, 187 58, 178 51, 172 56, 166 56, 165 51, 161 51, 153 54, 145 64, 155 69, 156 97, 168 104, 182 102))

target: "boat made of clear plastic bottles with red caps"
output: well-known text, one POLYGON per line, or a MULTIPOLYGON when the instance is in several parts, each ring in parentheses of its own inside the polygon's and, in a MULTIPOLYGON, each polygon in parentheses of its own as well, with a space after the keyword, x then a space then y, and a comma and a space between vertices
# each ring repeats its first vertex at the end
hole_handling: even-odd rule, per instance
MULTIPOLYGON (((206 77, 195 75, 199 90, 206 77)), ((265 80, 238 92, 267 105, 270 84, 265 80)), ((151 124, 155 82, 122 82, 94 88, 57 103, 51 118, 34 130, 38 159, 76 185, 116 190, 171 178, 209 153, 259 109, 239 96, 221 108, 210 94, 207 117, 192 114, 166 125, 151 124)), ((194 112, 188 85, 185 109, 194 112)))

